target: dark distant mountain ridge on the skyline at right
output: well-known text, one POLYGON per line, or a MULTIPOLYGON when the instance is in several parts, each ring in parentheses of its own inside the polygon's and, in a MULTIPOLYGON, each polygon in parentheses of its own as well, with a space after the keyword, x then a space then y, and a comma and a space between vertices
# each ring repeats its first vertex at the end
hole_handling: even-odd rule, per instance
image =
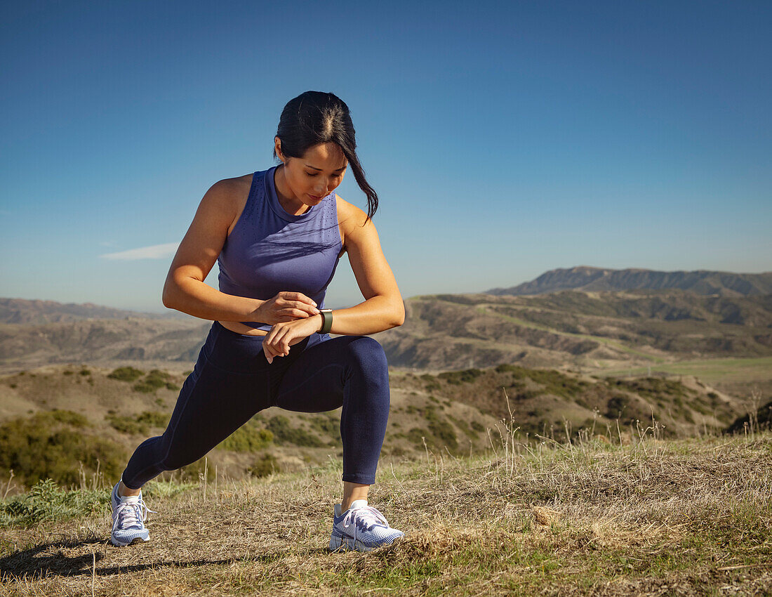
POLYGON ((576 266, 550 270, 536 280, 511 288, 493 288, 486 294, 519 296, 545 294, 557 290, 660 290, 678 288, 697 294, 718 294, 722 297, 748 297, 772 293, 772 272, 731 273, 696 270, 692 272, 660 272, 628 268, 576 266))

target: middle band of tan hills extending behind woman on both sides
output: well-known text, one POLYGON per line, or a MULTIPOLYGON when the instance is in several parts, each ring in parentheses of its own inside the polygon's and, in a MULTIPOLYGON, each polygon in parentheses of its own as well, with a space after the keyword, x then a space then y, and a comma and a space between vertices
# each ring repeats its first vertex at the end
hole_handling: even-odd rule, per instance
MULTIPOLYGON (((405 301, 405 324, 375 334, 391 365, 632 368, 685 359, 770 358, 772 295, 702 296, 683 290, 532 297, 442 294, 405 301)), ((0 324, 0 372, 47 363, 183 371, 211 322, 182 319, 0 324)))

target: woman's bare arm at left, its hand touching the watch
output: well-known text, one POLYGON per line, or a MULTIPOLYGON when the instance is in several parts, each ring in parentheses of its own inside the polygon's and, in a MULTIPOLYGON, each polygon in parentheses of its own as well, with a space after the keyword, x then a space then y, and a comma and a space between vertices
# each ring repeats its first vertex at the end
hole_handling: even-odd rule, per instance
POLYGON ((164 307, 212 321, 261 321, 275 324, 316 311, 301 293, 282 292, 269 300, 235 297, 204 283, 215 265, 238 209, 239 184, 215 182, 198 205, 193 222, 171 262, 164 283, 164 307))

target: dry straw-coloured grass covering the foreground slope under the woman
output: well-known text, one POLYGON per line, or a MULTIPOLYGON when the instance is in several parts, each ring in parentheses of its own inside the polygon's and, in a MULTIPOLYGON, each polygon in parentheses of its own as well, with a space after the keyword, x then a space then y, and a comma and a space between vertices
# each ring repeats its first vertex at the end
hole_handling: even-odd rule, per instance
POLYGON ((152 541, 109 515, 0 539, 9 595, 764 595, 772 592, 772 434, 427 452, 381 466, 371 503, 408 536, 330 554, 340 462, 218 480, 149 504, 152 541))

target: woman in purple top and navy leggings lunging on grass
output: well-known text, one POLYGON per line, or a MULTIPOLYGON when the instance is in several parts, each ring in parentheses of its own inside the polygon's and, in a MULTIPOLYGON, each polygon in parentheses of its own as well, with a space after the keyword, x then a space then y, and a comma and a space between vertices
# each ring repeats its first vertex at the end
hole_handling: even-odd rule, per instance
POLYGON ((331 550, 368 551, 402 535, 367 505, 389 388, 383 348, 364 334, 401 325, 405 308, 371 221, 378 195, 357 158, 347 105, 316 91, 289 101, 274 157, 277 167, 212 185, 171 263, 164 305, 213 324, 164 434, 137 447, 113 488, 115 545, 149 538, 144 483, 195 462, 269 406, 343 406, 343 500, 334 506, 331 550), (349 167, 367 214, 334 192, 349 167), (365 300, 325 310, 344 253, 365 300), (219 290, 204 283, 215 260, 219 290))

